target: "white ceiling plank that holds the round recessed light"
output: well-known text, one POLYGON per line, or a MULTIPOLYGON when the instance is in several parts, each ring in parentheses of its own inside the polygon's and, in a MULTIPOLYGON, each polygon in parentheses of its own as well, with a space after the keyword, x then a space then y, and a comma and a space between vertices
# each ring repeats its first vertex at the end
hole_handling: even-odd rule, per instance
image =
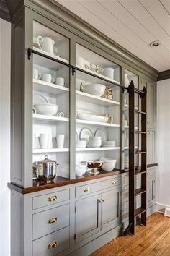
MULTIPOLYGON (((147 46, 150 45, 153 40, 158 40, 146 29, 146 27, 143 27, 143 25, 138 22, 138 20, 133 17, 130 12, 128 12, 127 9, 122 7, 122 5, 118 1, 110 1, 110 0, 97 0, 99 4, 102 4, 103 7, 105 7, 109 12, 111 12, 115 17, 117 17, 118 20, 120 20, 124 25, 126 25, 130 30, 136 31, 138 37, 143 40, 147 44, 147 46)), ((148 47, 149 48, 149 47, 148 47)), ((151 49, 150 49, 151 50, 151 49)), ((154 51, 157 52, 157 54, 161 55, 166 59, 166 61, 170 60, 170 51, 161 45, 159 48, 153 48, 154 51)))

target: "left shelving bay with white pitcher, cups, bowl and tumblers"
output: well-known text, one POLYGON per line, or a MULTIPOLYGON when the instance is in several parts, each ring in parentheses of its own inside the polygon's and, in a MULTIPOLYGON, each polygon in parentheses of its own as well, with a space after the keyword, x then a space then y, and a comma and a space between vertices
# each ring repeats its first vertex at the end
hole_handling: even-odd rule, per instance
MULTIPOLYGON (((69 178, 69 39, 33 22, 32 163, 45 155, 56 161, 57 175, 69 178)), ((47 158, 46 157, 46 158, 47 158)), ((36 172, 33 179, 36 179, 36 172)))

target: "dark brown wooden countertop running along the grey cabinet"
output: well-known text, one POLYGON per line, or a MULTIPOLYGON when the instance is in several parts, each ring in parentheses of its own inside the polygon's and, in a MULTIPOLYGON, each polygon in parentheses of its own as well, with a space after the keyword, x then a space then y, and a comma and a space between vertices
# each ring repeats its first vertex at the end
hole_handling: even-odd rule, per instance
MULTIPOLYGON (((148 164, 147 168, 151 168, 153 166, 158 166, 158 163, 148 164)), ((53 182, 46 183, 46 182, 40 182, 39 180, 34 180, 32 187, 19 187, 17 184, 14 183, 8 183, 9 189, 14 189, 17 192, 20 192, 22 194, 28 194, 32 192, 37 192, 45 189, 53 189, 54 187, 62 187, 70 184, 76 184, 79 182, 86 182, 91 179, 100 179, 107 176, 114 176, 116 174, 123 174, 128 172, 128 169, 124 170, 117 170, 115 171, 100 171, 99 174, 89 174, 86 172, 84 176, 76 177, 76 179, 66 179, 61 176, 56 176, 55 179, 53 179, 53 182)))

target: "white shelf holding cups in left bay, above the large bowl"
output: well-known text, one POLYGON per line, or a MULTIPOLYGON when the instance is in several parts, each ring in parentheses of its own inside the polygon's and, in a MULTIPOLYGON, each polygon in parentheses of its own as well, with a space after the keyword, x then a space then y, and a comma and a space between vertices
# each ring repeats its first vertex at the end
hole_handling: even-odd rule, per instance
POLYGON ((34 90, 40 90, 43 93, 58 95, 61 93, 69 92, 69 89, 64 86, 55 85, 50 82, 45 82, 42 80, 33 79, 33 84, 34 84, 34 90))

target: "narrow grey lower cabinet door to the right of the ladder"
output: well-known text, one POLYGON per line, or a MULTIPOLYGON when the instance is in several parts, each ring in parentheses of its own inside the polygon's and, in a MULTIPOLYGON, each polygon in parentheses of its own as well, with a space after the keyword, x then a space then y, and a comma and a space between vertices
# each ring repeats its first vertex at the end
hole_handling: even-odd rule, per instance
POLYGON ((147 208, 156 203, 156 179, 155 176, 150 176, 147 179, 147 208))

